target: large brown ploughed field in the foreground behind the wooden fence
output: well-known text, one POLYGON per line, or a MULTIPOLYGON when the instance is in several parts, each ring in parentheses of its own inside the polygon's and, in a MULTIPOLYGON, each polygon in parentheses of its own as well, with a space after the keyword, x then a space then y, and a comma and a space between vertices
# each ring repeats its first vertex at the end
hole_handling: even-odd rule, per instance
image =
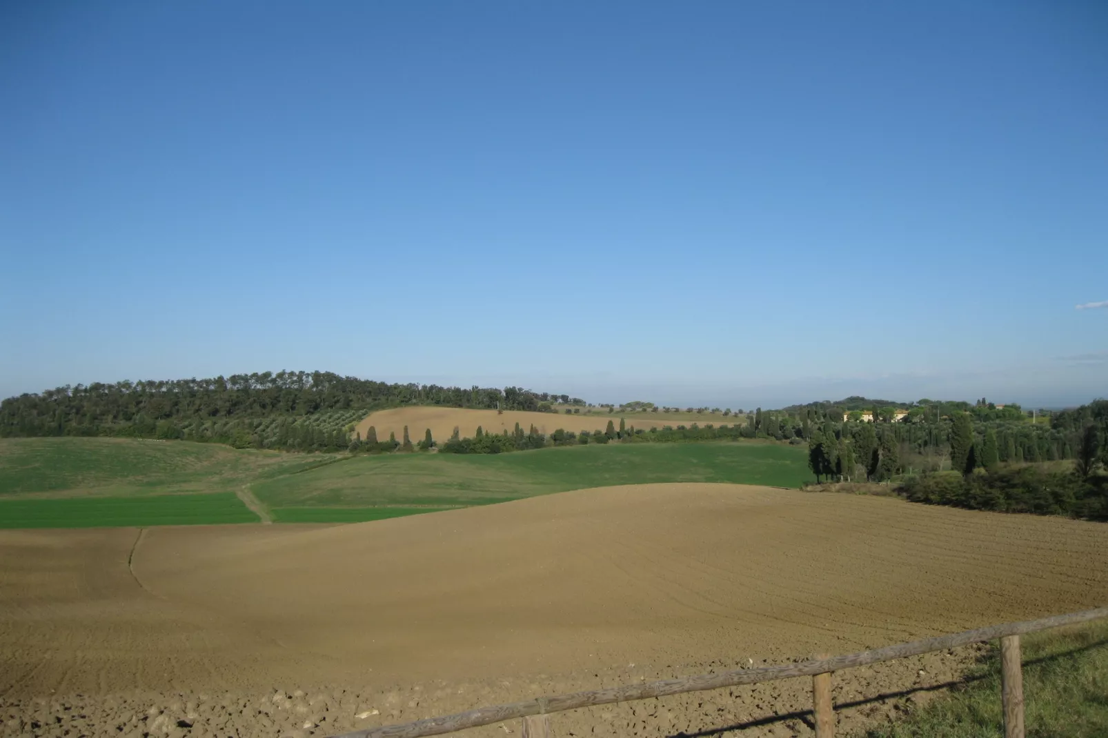
MULTIPOLYGON (((1106 595, 1102 524, 727 484, 581 490, 329 527, 0 531, 0 727, 329 735, 847 653, 1106 595)), ((967 657, 837 675, 835 699, 941 684, 967 657)), ((741 735, 808 735, 788 715, 808 708, 808 689, 694 694, 554 725, 561 736, 669 736, 759 721, 741 735)), ((890 709, 848 707, 843 725, 890 709)))

